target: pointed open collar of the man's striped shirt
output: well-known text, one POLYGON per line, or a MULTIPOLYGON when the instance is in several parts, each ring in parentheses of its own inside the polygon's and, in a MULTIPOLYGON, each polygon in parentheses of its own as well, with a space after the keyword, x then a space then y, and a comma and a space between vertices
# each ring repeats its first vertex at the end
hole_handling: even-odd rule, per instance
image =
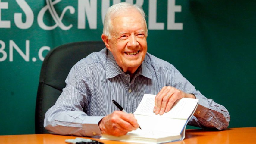
MULTIPOLYGON (((106 79, 113 78, 119 74, 124 74, 123 70, 118 66, 117 62, 114 59, 113 54, 108 50, 107 54, 107 66, 106 66, 106 79)), ((143 61, 141 66, 138 69, 137 74, 152 79, 152 76, 149 72, 149 69, 146 65, 146 62, 143 61)))

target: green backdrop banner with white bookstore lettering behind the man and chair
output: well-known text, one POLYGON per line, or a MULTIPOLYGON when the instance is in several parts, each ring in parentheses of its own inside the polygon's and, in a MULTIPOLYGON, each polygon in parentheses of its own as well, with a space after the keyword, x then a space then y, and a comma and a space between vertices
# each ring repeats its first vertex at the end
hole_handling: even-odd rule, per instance
MULTIPOLYGON (((120 0, 0 0, 0 135, 35 133, 36 92, 50 49, 101 41, 120 0)), ((255 127, 254 0, 126 0, 145 10, 148 52, 224 105, 229 127, 255 127)))

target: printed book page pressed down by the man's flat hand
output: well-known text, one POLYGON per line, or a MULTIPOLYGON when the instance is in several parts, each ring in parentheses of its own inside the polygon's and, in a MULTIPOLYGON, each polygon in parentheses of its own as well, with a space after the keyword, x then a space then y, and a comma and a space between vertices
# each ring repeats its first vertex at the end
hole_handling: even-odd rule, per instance
MULTIPOLYGON (((138 108, 134 114, 147 115, 147 116, 160 116, 155 115, 153 112, 155 106, 155 96, 150 94, 144 94, 138 108)), ((198 99, 182 98, 175 102, 173 108, 164 113, 161 117, 176 118, 176 119, 188 119, 191 113, 194 111, 198 104, 198 99)))

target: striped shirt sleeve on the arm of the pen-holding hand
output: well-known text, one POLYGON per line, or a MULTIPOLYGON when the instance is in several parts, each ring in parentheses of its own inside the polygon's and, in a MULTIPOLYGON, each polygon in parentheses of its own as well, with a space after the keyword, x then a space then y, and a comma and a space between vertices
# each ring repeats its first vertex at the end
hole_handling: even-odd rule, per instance
POLYGON ((65 81, 67 83, 55 105, 45 114, 44 127, 50 133, 76 136, 101 134, 98 122, 103 116, 88 116, 87 95, 89 95, 89 75, 74 66, 65 81), (85 112, 84 112, 84 111, 85 112))

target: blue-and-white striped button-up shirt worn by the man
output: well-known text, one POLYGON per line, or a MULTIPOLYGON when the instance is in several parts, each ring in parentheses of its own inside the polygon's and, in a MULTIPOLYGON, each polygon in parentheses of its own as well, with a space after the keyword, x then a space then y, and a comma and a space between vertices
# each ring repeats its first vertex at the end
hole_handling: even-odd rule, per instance
POLYGON ((230 121, 225 107, 204 97, 172 64, 149 53, 132 80, 104 48, 75 64, 65 82, 67 85, 57 102, 45 114, 44 127, 50 133, 99 135, 98 122, 118 110, 112 99, 133 113, 145 93, 156 95, 164 86, 192 93, 199 99, 189 125, 222 130, 230 121))

